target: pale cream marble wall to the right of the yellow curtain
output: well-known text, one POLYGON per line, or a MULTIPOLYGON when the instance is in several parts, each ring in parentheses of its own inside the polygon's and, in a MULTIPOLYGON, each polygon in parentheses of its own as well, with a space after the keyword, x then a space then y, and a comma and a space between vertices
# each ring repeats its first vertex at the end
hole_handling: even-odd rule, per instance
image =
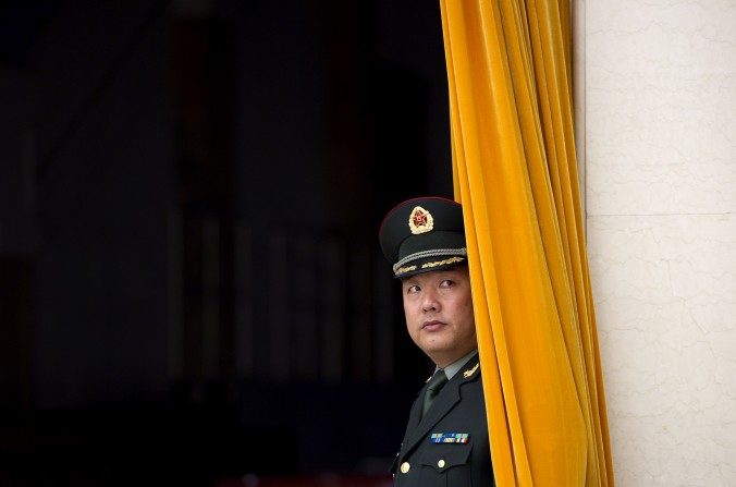
POLYGON ((616 485, 736 486, 736 0, 575 8, 616 485))

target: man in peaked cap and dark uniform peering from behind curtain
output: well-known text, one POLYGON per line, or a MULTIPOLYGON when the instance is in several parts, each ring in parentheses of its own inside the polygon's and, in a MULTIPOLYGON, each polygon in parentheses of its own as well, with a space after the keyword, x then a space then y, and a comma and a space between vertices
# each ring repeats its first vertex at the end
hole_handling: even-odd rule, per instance
POLYGON ((436 365, 412 406, 395 486, 493 486, 462 207, 409 199, 389 211, 379 240, 402 281, 409 337, 436 365))

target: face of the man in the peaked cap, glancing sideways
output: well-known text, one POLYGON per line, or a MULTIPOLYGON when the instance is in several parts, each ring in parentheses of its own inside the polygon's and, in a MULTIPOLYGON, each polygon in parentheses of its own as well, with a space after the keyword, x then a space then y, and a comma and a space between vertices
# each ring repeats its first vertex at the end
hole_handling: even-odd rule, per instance
POLYGON ((467 267, 408 277, 402 294, 412 340, 439 367, 477 346, 467 267))

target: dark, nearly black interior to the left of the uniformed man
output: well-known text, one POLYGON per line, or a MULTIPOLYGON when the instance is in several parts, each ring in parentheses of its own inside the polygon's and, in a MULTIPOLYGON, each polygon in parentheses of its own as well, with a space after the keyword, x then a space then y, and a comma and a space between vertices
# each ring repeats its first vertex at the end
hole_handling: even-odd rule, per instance
POLYGON ((452 196, 438 2, 3 2, 0 36, 0 486, 384 475, 429 364, 377 230, 452 196))

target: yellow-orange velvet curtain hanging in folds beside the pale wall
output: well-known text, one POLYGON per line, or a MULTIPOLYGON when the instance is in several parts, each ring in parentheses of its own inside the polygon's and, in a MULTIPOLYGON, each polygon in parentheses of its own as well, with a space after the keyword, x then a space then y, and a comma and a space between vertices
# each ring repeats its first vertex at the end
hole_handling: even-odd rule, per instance
POLYGON ((565 0, 440 0, 500 486, 613 485, 565 0))

